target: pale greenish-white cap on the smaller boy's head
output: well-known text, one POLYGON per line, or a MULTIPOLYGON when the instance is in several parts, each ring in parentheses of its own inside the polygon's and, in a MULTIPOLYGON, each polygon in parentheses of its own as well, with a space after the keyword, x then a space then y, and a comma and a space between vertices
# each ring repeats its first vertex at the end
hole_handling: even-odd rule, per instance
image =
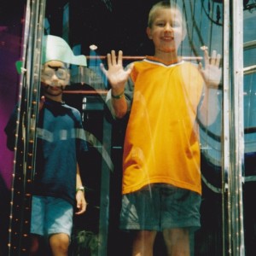
POLYGON ((63 38, 52 35, 43 38, 42 63, 47 61, 62 61, 68 64, 87 66, 84 55, 73 55, 73 50, 63 38))

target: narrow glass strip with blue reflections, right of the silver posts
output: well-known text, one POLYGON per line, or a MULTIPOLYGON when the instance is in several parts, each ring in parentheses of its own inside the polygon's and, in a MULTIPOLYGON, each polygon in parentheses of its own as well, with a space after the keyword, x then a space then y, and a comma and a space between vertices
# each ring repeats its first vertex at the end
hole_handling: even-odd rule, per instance
POLYGON ((243 49, 244 49, 244 147, 245 173, 243 187, 244 233, 246 255, 256 253, 255 211, 250 196, 255 193, 255 83, 256 83, 256 35, 253 32, 256 22, 254 1, 247 1, 243 11, 243 49))

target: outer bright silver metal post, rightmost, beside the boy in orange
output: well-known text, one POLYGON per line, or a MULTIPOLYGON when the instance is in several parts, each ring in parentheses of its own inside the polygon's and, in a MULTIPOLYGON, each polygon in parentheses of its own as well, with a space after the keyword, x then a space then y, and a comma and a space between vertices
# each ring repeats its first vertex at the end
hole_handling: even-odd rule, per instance
POLYGON ((230 172, 229 241, 230 255, 245 255, 242 206, 242 173, 244 168, 243 119, 243 1, 230 1, 230 172))

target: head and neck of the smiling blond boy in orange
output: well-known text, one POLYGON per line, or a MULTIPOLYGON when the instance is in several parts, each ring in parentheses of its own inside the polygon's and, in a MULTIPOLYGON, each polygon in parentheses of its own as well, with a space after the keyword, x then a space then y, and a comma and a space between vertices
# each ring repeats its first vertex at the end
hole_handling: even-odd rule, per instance
POLYGON ((155 56, 171 54, 177 57, 177 49, 186 36, 183 16, 177 8, 158 7, 149 16, 147 34, 153 40, 155 56))

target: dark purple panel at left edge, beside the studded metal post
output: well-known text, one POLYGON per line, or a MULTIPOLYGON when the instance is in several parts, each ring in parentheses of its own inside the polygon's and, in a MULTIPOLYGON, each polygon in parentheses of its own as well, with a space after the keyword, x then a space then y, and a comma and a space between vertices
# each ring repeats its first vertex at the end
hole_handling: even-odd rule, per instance
POLYGON ((20 37, 0 26, 0 174, 7 188, 12 182, 14 154, 6 147, 4 127, 15 108, 19 88, 19 75, 15 61, 20 59, 20 37))

